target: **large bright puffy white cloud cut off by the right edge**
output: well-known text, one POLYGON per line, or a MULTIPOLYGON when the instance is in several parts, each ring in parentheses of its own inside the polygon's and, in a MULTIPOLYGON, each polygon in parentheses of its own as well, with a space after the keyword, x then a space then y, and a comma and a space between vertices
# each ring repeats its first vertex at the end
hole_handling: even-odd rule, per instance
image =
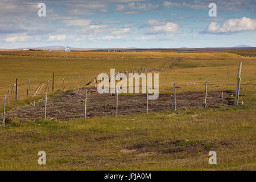
POLYGON ((246 17, 229 19, 220 25, 212 22, 203 32, 208 34, 233 34, 242 31, 256 31, 256 19, 246 17))

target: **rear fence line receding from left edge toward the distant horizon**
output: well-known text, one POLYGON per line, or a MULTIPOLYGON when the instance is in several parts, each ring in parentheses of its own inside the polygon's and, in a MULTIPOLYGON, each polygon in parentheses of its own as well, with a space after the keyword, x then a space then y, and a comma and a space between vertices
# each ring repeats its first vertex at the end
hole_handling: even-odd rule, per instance
MULTIPOLYGON (((125 71, 118 71, 117 73, 125 73, 125 75, 129 75, 129 73, 146 73, 146 72, 161 72, 164 69, 173 68, 177 62, 181 59, 176 59, 173 63, 168 64, 166 67, 161 68, 152 68, 152 67, 137 67, 125 71)), ((71 77, 63 77, 63 78, 55 78, 56 75, 52 73, 52 78, 48 78, 45 80, 40 80, 37 78, 28 78, 27 80, 20 81, 16 78, 13 84, 9 84, 6 86, 0 87, 0 91, 6 94, 7 103, 14 104, 16 101, 26 100, 28 98, 42 97, 44 94, 42 93, 54 93, 56 90, 76 90, 83 88, 84 86, 92 86, 97 85, 97 75, 94 76, 71 76, 71 77)), ((3 96, 2 96, 3 97, 3 96)), ((0 95, 0 109, 2 108, 3 100, 1 100, 0 95)))

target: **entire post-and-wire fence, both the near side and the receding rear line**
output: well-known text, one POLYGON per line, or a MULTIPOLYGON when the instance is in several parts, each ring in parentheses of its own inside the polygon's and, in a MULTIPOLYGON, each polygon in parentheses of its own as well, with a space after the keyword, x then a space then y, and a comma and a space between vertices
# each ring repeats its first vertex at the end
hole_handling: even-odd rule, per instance
MULTIPOLYGON (((178 60, 177 60, 178 61, 178 60)), ((169 67, 169 66, 168 66, 169 67)), ((161 68, 165 69, 165 68, 161 68)), ((124 73, 143 73, 153 71, 152 68, 132 69, 125 71, 124 73)), ((143 94, 122 94, 117 92, 115 94, 98 94, 96 88, 90 86, 97 86, 97 77, 65 77, 55 78, 53 73, 52 79, 37 80, 28 79, 26 81, 15 83, 12 86, 2 87, 7 89, 7 94, 0 96, 1 106, 3 106, 3 114, 1 114, 3 125, 5 125, 6 116, 14 116, 14 118, 21 119, 36 119, 38 117, 44 119, 73 119, 93 117, 98 115, 114 114, 118 117, 118 114, 130 114, 150 111, 160 111, 167 109, 184 109, 191 107, 207 107, 215 105, 227 105, 238 104, 241 100, 241 104, 244 103, 246 97, 254 97, 255 90, 247 90, 245 93, 240 93, 240 87, 243 89, 245 85, 256 85, 251 82, 256 80, 251 78, 250 80, 241 82, 241 64, 238 69, 236 94, 233 92, 223 91, 221 87, 227 85, 226 81, 209 82, 205 81, 187 81, 187 82, 174 82, 170 84, 159 85, 159 87, 172 88, 173 94, 160 94, 158 100, 148 100, 150 96, 150 86, 137 85, 139 88, 146 88, 146 93, 143 94), (65 81, 69 81, 66 83, 65 81), (76 79, 76 81, 75 81, 76 79), (39 81, 39 85, 33 85, 33 81, 39 81), (27 82, 27 83, 26 83, 27 82), (83 84, 84 83, 84 84, 83 84), (24 85, 23 85, 24 84, 24 85), (87 87, 88 86, 88 87, 87 87), (201 92, 192 92, 191 86, 198 86, 201 92), (218 89, 214 90, 213 86, 218 89), (179 91, 179 88, 189 88, 188 90, 179 91), (63 91, 73 90, 72 92, 57 93, 56 96, 47 97, 47 94, 54 93, 56 89, 63 91), (21 90, 21 92, 20 92, 21 90), (204 91, 203 91, 204 90, 204 91), (26 94, 24 92, 26 91, 26 94), (188 91, 188 92, 186 92, 188 91), (89 92, 89 94, 88 94, 89 92), (180 93, 179 93, 180 92, 180 93), (22 94, 20 94, 22 93, 22 94), (44 94, 45 93, 45 94, 44 94), (242 96, 240 99, 238 96, 242 96), (43 97, 38 100, 38 98, 43 97), (26 98, 33 103, 28 106, 19 107, 6 113, 6 106, 10 105, 10 102, 16 102, 26 98), (35 102, 35 100, 38 100, 35 102), (42 109, 43 108, 43 109, 42 109), (20 115, 21 117, 18 117, 20 115)), ((230 80, 229 80, 230 81, 230 80)), ((232 79, 232 81, 235 81, 232 79)), ((235 85, 235 82, 231 83, 235 85)), ((135 86, 134 86, 135 89, 135 86)), ((195 91, 195 90, 194 90, 195 91)), ((170 90, 168 90, 170 92, 170 90)), ((250 102, 250 101, 249 101, 250 102)))

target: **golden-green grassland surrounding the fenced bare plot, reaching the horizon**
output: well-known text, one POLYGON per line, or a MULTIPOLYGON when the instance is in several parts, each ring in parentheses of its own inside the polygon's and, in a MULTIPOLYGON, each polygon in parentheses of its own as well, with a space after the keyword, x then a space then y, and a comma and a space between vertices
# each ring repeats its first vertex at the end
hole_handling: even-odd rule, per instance
MULTIPOLYGON (((251 52, 250 52, 251 53, 251 52)), ((252 54, 252 53, 251 53, 252 54)), ((7 120, 0 126, 0 169, 4 170, 255 170, 256 58, 236 52, 122 53, 13 51, 0 53, 0 95, 14 84, 26 93, 28 79, 36 88, 55 72, 56 89, 61 78, 67 86, 88 77, 139 67, 165 67, 181 58, 173 69, 159 72, 160 92, 177 93, 209 89, 236 89, 237 68, 242 61, 241 96, 245 104, 204 109, 179 109, 150 114, 113 115, 84 121, 7 120), (33 56, 33 57, 31 57, 33 56), (46 57, 44 57, 46 56, 46 57), (187 85, 194 82, 196 85, 187 85), (168 85, 170 84, 170 85, 168 85), (37 162, 46 151, 47 165, 37 162), (208 152, 217 152, 217 165, 209 165, 208 152)), ((54 93, 52 93, 54 94, 54 93)), ((22 94, 21 94, 22 95, 22 94)), ((30 102, 26 97, 11 107, 30 102)), ((2 103, 0 97, 0 104, 2 103)), ((2 104, 1 104, 2 105, 2 104)))

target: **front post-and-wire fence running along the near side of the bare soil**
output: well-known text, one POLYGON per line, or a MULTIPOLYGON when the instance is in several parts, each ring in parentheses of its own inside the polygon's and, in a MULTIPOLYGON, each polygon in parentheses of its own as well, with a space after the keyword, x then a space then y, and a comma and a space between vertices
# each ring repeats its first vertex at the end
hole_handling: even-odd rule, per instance
MULTIPOLYGON (((132 113, 150 113, 152 111, 190 109, 193 107, 208 107, 219 105, 233 105, 234 93, 229 91, 214 90, 209 88, 211 82, 201 82, 195 84, 170 83, 159 86, 170 86, 173 94, 159 94, 157 100, 148 100, 151 94, 148 86, 146 93, 141 94, 123 94, 118 90, 115 94, 99 94, 96 88, 80 88, 71 92, 60 92, 55 96, 47 97, 44 94, 35 104, 18 107, 7 113, 3 112, 3 123, 5 117, 18 119, 63 119, 88 118, 102 115, 132 114, 132 113), (195 86, 201 88, 201 92, 181 92, 181 86, 195 86), (204 90, 204 91, 203 91, 204 90)), ((244 85, 243 85, 244 86, 244 85)), ((140 86, 141 88, 143 86, 140 86)), ((255 91, 255 90, 254 90, 255 91)), ((244 102, 245 96, 254 96, 256 94, 241 94, 244 102)), ((240 101, 241 101, 240 99, 240 101)), ((245 101, 248 102, 248 101, 245 101)), ((5 103, 5 102, 4 102, 5 103)), ((240 104, 243 104, 240 102, 240 104)))

